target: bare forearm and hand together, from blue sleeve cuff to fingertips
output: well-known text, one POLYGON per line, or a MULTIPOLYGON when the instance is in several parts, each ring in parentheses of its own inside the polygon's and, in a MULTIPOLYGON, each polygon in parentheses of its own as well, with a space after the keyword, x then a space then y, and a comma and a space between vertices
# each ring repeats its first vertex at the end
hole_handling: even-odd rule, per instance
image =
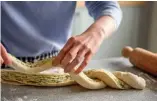
POLYGON ((100 17, 83 34, 71 37, 54 60, 65 72, 80 73, 97 52, 102 41, 115 30, 115 20, 110 16, 100 17))

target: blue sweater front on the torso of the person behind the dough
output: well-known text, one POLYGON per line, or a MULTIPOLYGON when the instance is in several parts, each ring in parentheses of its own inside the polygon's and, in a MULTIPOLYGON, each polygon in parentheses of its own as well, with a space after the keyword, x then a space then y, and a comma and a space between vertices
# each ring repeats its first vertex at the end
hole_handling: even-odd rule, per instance
POLYGON ((15 56, 58 51, 71 34, 76 2, 2 2, 1 35, 15 56))

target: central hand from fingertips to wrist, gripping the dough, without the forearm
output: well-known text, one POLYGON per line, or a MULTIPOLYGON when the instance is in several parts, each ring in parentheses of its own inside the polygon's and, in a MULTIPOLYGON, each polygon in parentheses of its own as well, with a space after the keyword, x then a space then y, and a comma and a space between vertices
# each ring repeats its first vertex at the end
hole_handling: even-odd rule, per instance
POLYGON ((76 74, 80 73, 96 53, 103 39, 103 35, 92 30, 71 37, 55 58, 54 64, 61 64, 65 72, 71 72, 80 64, 75 71, 76 74))

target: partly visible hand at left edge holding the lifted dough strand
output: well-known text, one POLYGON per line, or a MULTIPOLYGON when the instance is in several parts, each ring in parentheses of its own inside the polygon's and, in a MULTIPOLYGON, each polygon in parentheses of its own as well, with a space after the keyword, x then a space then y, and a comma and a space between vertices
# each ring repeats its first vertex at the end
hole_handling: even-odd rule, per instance
POLYGON ((0 48, 1 48, 1 56, 0 56, 0 66, 4 63, 4 64, 6 64, 6 65, 8 65, 8 64, 11 64, 11 59, 10 59, 10 57, 9 57, 9 55, 8 55, 8 53, 7 53, 7 51, 6 51, 6 49, 5 49, 5 47, 2 45, 2 44, 0 44, 1 46, 0 46, 0 48))

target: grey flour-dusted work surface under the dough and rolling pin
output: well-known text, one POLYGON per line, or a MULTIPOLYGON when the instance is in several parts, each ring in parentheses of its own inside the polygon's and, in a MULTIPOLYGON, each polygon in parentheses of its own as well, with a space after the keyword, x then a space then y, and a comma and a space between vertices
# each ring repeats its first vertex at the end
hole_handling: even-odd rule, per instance
POLYGON ((133 67, 127 59, 92 60, 86 69, 104 68, 109 71, 129 71, 147 82, 144 90, 104 88, 87 90, 79 85, 67 87, 32 87, 2 84, 1 101, 157 101, 157 78, 133 67))

